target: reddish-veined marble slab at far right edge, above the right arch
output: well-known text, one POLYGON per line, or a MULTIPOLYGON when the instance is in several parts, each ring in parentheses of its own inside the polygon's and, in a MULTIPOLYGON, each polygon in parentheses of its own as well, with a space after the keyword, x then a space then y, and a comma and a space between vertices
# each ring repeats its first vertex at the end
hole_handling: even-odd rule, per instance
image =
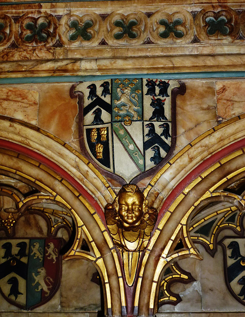
POLYGON ((245 80, 216 82, 219 122, 245 112, 245 80))

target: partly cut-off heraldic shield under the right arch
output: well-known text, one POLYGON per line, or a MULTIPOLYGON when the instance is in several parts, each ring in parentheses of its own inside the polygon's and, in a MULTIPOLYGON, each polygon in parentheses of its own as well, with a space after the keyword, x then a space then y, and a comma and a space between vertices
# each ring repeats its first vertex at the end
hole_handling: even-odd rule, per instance
POLYGON ((232 296, 245 305, 245 237, 225 237, 220 244, 226 285, 232 296))

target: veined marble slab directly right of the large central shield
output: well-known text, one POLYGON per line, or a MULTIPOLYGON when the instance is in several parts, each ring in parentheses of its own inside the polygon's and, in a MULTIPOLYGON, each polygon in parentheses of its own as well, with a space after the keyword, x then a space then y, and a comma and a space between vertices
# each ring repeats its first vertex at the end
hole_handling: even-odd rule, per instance
POLYGON ((217 125, 212 81, 186 81, 186 93, 176 100, 177 153, 200 134, 217 125))

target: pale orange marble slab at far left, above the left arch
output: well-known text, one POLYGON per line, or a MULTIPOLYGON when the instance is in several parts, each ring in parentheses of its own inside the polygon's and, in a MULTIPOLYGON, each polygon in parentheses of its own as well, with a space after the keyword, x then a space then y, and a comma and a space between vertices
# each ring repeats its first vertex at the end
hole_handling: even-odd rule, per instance
POLYGON ((0 88, 0 114, 37 124, 39 94, 16 86, 0 88))

